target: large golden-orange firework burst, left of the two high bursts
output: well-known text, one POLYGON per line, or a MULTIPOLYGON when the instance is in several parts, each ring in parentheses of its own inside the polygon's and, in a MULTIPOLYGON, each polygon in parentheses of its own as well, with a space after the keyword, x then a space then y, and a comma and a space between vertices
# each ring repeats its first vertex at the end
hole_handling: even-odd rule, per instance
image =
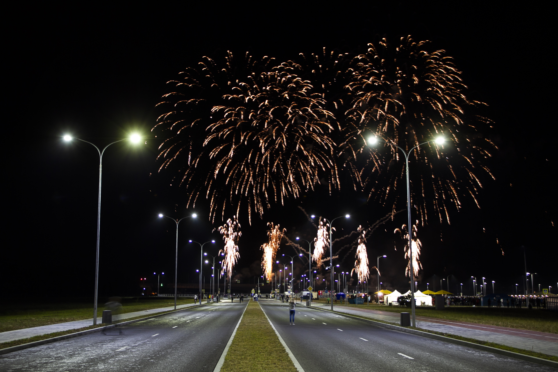
POLYGON ((273 62, 230 52, 224 61, 204 57, 170 82, 175 91, 160 103, 168 109, 153 128, 165 138, 160 171, 177 174, 188 205, 209 199, 213 220, 229 206, 251 221, 252 212, 261 217, 320 180, 339 187, 333 114, 309 81, 273 69, 273 62))

